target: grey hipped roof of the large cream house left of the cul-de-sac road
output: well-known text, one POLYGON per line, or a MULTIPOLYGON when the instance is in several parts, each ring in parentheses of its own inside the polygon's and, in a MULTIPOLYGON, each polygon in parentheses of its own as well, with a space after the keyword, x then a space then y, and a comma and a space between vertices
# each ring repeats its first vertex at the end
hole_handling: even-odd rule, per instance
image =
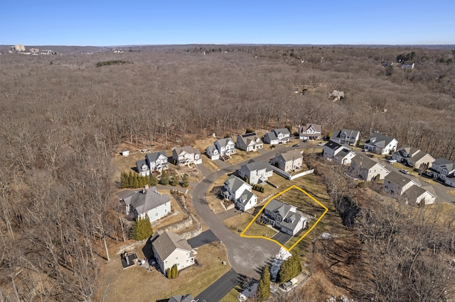
POLYGON ((150 211, 152 208, 156 208, 157 206, 161 206, 162 204, 171 201, 171 198, 167 194, 161 195, 156 191, 156 186, 152 186, 149 189, 135 192, 131 196, 125 197, 123 200, 125 204, 133 206, 140 215, 150 211))

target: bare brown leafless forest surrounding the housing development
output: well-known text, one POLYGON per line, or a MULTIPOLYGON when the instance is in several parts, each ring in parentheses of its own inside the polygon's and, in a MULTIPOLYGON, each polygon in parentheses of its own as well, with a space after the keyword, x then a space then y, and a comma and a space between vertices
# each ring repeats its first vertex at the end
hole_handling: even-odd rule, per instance
MULTIPOLYGON (((123 240, 111 165, 122 145, 159 142, 170 150, 212 133, 319 123, 325 134, 348 128, 365 139, 379 131, 455 160, 455 50, 448 47, 63 50, 0 57, 0 301, 95 298, 107 248, 123 240), (397 56, 411 52, 415 68, 402 69, 397 56), (97 67, 110 60, 122 64, 97 67), (299 87, 303 95, 294 93, 299 87), (345 99, 329 99, 334 89, 345 99)), ((348 186, 335 176, 324 181, 333 200, 338 186, 348 186)), ((446 262, 455 253, 454 222, 424 209, 392 211, 374 196, 363 206, 349 239, 358 251, 336 256, 363 274, 346 280, 328 269, 328 279, 358 301, 453 296, 446 262)), ((324 255, 349 240, 316 242, 313 268, 332 268, 324 255)))

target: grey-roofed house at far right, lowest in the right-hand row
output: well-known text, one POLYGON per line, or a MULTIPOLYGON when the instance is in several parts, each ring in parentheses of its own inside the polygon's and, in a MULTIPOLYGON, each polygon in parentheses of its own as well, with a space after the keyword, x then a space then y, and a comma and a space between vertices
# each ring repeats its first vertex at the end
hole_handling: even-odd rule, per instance
POLYGON ((432 186, 420 186, 420 182, 405 177, 405 175, 390 172, 384 179, 384 190, 395 196, 404 195, 407 201, 432 204, 436 193, 432 186))

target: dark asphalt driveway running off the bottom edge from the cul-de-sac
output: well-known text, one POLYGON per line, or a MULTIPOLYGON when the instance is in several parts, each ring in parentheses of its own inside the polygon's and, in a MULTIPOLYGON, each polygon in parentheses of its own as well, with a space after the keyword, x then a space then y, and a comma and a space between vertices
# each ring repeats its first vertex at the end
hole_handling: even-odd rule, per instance
POLYGON ((240 275, 231 269, 224 274, 220 279, 215 281, 212 285, 208 286, 202 293, 200 293, 195 300, 200 302, 213 302, 220 301, 226 296, 237 284, 240 283, 240 275))

